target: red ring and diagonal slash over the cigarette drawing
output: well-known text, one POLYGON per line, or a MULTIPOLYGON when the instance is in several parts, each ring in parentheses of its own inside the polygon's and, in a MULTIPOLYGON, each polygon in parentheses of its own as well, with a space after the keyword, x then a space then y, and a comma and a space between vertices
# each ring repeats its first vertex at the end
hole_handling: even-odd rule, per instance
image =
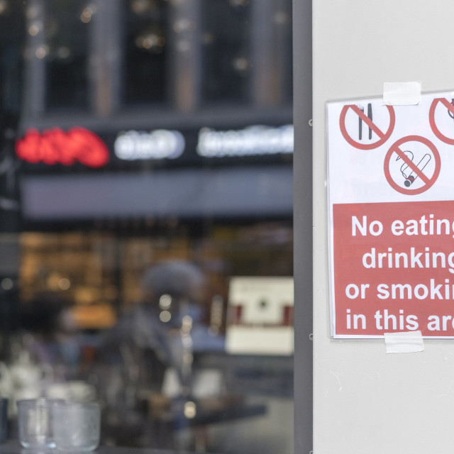
POLYGON ((397 142, 391 145, 391 148, 389 148, 387 155, 384 157, 384 175, 388 180, 388 183, 391 185, 391 187, 396 189, 397 192, 406 195, 416 195, 427 191, 427 189, 429 189, 433 185, 433 183, 436 182, 436 179, 440 174, 440 167, 440 154, 438 153, 436 146, 433 145, 430 140, 421 137, 420 135, 407 135, 406 137, 397 140, 397 142), (406 142, 421 142, 431 150, 433 158, 435 160, 435 170, 433 171, 433 175, 431 177, 425 175, 423 171, 419 169, 419 167, 417 167, 417 165, 414 164, 414 162, 410 160, 409 157, 407 157, 406 154, 399 148, 400 145, 406 142), (399 155, 399 157, 405 162, 406 165, 411 168, 411 170, 416 174, 417 177, 421 178, 421 180, 424 182, 423 186, 417 189, 406 189, 399 186, 399 184, 397 184, 394 179, 392 179, 391 173, 389 172, 389 162, 391 161, 391 156, 394 153, 399 155))

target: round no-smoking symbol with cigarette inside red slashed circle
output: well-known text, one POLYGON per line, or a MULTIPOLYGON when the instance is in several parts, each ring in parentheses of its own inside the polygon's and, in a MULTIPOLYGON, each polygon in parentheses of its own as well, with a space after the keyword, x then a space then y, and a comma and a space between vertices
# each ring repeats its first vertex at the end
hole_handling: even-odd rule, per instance
POLYGON ((397 192, 416 195, 436 182, 441 160, 436 146, 420 135, 397 140, 384 157, 384 175, 397 192))

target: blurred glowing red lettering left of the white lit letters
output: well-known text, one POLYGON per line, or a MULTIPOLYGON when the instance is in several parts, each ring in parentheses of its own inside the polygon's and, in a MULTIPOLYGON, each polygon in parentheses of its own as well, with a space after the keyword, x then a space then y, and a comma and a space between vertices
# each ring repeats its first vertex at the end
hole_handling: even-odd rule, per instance
POLYGON ((16 155, 27 162, 48 165, 73 165, 78 161, 88 167, 103 167, 109 161, 106 144, 96 134, 79 127, 66 133, 60 128, 43 133, 29 129, 17 140, 16 155))

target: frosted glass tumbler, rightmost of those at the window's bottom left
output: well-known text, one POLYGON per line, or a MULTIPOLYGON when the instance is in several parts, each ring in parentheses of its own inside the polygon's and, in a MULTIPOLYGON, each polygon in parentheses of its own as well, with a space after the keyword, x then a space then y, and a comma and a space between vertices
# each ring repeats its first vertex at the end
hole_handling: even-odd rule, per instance
POLYGON ((53 406, 53 434, 58 450, 95 450, 100 426, 101 407, 96 402, 56 402, 53 406))

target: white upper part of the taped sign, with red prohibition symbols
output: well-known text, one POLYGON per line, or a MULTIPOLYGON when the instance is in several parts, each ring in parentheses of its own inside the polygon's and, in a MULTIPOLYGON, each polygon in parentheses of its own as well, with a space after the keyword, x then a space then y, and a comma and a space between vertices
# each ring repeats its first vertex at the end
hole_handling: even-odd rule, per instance
POLYGON ((327 116, 331 203, 453 198, 454 92, 336 101, 327 116))

